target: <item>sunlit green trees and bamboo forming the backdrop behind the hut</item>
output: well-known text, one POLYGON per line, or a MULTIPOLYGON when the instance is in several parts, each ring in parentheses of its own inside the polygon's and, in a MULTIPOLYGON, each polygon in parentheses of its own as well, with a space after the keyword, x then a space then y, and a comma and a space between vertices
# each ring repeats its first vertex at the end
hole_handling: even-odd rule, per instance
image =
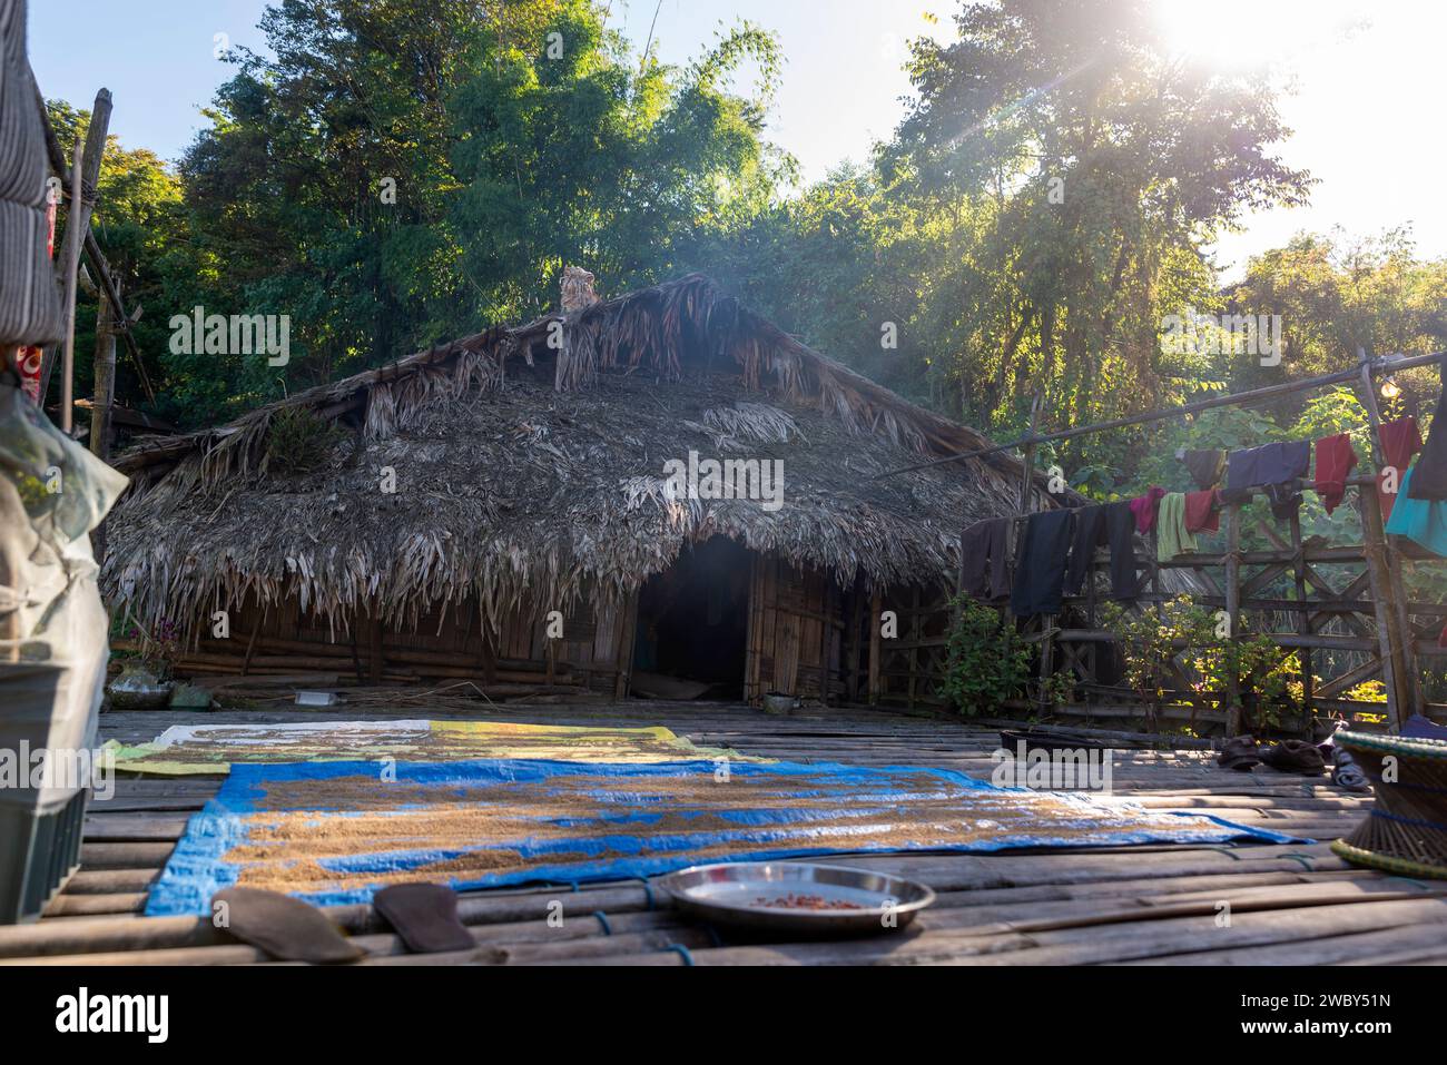
MULTIPOLYGON (((101 181, 101 243, 146 308, 153 410, 184 424, 532 317, 564 265, 605 295, 706 271, 1001 437, 1036 391, 1056 428, 1447 331, 1447 263, 1405 230, 1302 234, 1221 284, 1211 240, 1312 179, 1278 158, 1278 81, 1171 55, 1140 0, 958 3, 951 41, 912 51, 894 135, 806 188, 764 136, 784 56, 751 25, 686 67, 640 55, 592 0, 281 0, 262 27, 271 54, 230 56, 174 172, 113 143, 101 181), (172 353, 166 323, 195 305, 288 314, 289 363, 172 353), (1285 357, 1163 350, 1162 320, 1188 311, 1281 314, 1285 357)), ((85 120, 52 114, 62 139, 85 120)), ((1408 405, 1435 388, 1401 383, 1408 405)), ((124 357, 120 389, 142 401, 124 357)), ((1043 457, 1108 498, 1182 486, 1176 447, 1360 430, 1362 414, 1340 391, 1043 457)))

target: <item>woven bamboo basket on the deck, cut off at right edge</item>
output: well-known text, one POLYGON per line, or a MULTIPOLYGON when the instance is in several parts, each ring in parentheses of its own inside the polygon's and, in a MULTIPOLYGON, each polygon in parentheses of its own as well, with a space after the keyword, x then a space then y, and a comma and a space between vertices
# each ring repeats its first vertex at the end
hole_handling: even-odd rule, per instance
POLYGON ((1337 732, 1336 742, 1372 780, 1376 806, 1331 849, 1354 865, 1447 880, 1447 741, 1337 732))

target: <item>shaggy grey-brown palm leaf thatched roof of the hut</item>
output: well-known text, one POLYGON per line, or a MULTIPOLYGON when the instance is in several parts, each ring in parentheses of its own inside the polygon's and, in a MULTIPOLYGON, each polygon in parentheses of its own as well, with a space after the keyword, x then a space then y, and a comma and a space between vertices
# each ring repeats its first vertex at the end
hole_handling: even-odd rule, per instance
POLYGON ((473 598, 498 627, 519 602, 615 599, 712 535, 842 583, 949 580, 961 531, 1014 512, 1020 463, 874 475, 984 446, 692 275, 142 443, 117 462, 103 585, 187 629, 291 596, 343 628, 473 598), (337 427, 307 472, 273 447, 297 410, 337 427), (664 463, 690 450, 781 460, 783 506, 670 498, 664 463))

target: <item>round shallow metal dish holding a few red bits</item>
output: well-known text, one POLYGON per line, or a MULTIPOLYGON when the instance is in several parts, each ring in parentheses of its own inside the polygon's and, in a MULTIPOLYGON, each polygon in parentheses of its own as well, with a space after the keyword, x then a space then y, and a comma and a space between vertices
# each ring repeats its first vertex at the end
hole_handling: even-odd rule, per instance
POLYGON ((669 874, 660 884, 682 912, 702 920, 805 936, 897 932, 935 901, 935 893, 913 880, 809 862, 695 865, 669 874), (790 896, 822 900, 825 909, 778 904, 790 896))

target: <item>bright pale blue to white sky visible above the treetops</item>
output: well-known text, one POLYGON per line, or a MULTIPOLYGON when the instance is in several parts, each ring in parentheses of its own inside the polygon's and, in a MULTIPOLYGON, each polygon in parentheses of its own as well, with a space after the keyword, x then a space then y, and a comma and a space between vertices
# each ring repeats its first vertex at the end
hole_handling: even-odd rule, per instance
MULTIPOLYGON (((657 0, 614 0, 612 22, 638 48, 657 0)), ((1341 226, 1373 233, 1414 223, 1420 250, 1447 255, 1447 198, 1435 192, 1447 165, 1438 124, 1441 41, 1447 4, 1415 0, 1158 0, 1184 49, 1269 54, 1297 74, 1283 104, 1297 135, 1286 161, 1321 184, 1312 204, 1250 218, 1220 246, 1224 263, 1283 243, 1299 229, 1341 226), (1344 36, 1349 16, 1369 25, 1344 36), (1433 117, 1437 116, 1437 117, 1433 117)), ((262 48, 265 0, 32 0, 30 61, 41 88, 88 107, 96 88, 114 93, 111 130, 127 146, 175 159, 204 120, 216 87, 233 69, 213 58, 217 33, 262 48), (84 26, 78 46, 68 29, 84 26)), ((719 23, 751 19, 778 33, 789 64, 771 139, 819 178, 861 158, 900 116, 909 91, 903 43, 926 29, 925 10, 946 16, 951 0, 663 0, 655 48, 667 62, 697 55, 719 23)), ((938 32, 948 32, 948 17, 938 32)))

